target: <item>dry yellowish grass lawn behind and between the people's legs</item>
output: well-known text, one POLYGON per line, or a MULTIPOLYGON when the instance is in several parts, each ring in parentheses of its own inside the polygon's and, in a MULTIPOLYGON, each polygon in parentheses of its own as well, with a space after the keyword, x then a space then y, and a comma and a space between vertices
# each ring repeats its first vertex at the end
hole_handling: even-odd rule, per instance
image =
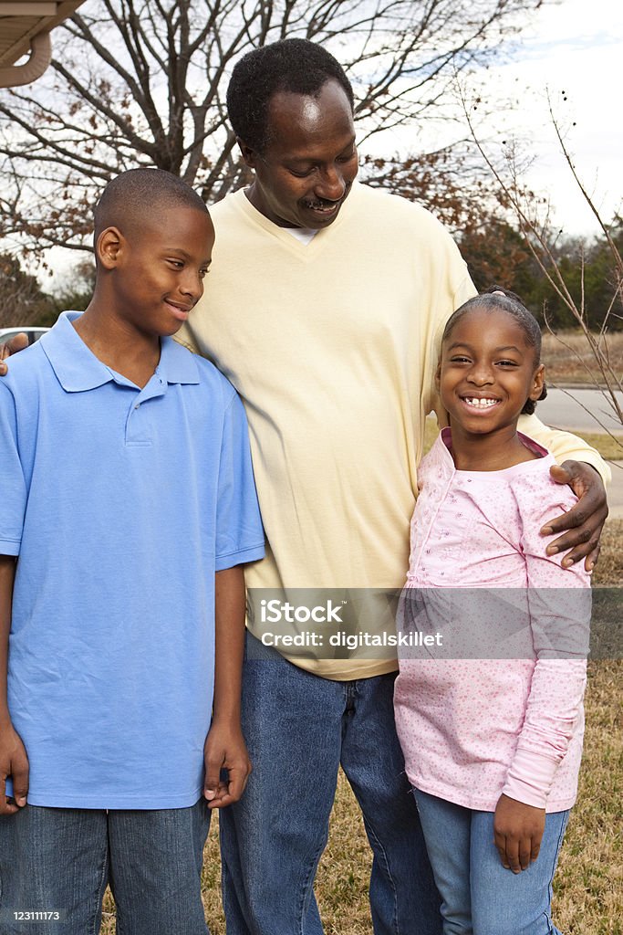
MULTIPOLYGON (((623 520, 606 525, 595 584, 623 584, 623 520)), ((623 661, 589 663, 580 792, 554 884, 555 921, 565 935, 623 935, 621 698, 623 661)), ((205 913, 212 935, 225 935, 219 898, 218 816, 214 818, 205 848, 205 913)), ((329 845, 316 887, 327 935, 371 935, 369 872, 370 850, 361 815, 340 775, 329 845)), ((105 935, 114 932, 109 895, 102 930, 105 935)))

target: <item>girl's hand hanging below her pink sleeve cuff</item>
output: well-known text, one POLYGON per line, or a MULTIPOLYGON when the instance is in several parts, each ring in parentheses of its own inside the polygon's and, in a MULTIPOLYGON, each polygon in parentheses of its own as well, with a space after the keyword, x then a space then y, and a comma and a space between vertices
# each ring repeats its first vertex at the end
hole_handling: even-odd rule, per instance
POLYGON ((495 846, 506 870, 528 870, 539 856, 545 830, 545 809, 500 796, 493 819, 495 846))

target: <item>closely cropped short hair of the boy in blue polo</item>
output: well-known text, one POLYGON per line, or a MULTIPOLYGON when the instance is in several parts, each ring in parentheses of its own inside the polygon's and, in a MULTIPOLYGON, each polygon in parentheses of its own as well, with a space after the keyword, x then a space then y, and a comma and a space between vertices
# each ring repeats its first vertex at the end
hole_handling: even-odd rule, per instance
POLYGON ((94 241, 106 227, 133 231, 158 218, 164 208, 194 208, 208 213, 205 202, 185 181, 164 169, 140 168, 121 172, 106 185, 93 212, 94 241))

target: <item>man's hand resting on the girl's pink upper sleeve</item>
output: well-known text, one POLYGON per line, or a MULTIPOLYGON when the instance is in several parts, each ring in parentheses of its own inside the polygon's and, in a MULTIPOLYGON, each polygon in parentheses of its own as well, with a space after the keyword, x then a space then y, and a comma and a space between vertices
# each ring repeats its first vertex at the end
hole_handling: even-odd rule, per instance
POLYGON ((600 554, 602 527, 608 515, 602 478, 595 468, 581 461, 565 461, 562 465, 554 465, 549 468, 549 473, 557 483, 569 484, 579 499, 571 510, 557 516, 541 529, 543 536, 551 536, 563 529, 571 530, 550 542, 546 552, 555 555, 571 549, 562 559, 562 566, 569 568, 584 558, 584 567, 592 571, 600 554))

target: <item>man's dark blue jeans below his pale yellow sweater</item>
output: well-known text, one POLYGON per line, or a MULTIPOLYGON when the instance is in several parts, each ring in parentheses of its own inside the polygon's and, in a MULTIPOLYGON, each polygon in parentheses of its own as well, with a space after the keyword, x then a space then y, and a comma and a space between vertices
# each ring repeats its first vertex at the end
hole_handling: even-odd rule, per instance
POLYGON ((394 674, 333 682, 248 636, 243 730, 253 764, 219 815, 228 935, 319 935, 313 885, 340 763, 374 852, 376 935, 439 935, 439 896, 404 775, 394 674))

